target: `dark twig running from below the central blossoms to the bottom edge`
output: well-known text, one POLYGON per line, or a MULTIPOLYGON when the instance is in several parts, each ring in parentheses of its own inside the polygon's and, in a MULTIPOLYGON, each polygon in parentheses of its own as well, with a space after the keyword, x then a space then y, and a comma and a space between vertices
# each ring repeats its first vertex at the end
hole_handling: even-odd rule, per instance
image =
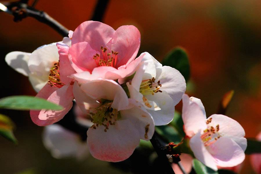
POLYGON ((174 171, 171 167, 170 162, 168 161, 166 152, 163 150, 164 147, 166 146, 166 143, 164 143, 164 141, 160 139, 160 135, 156 131, 154 132, 150 141, 160 159, 160 163, 161 163, 160 165, 162 166, 162 173, 173 174, 174 171))

